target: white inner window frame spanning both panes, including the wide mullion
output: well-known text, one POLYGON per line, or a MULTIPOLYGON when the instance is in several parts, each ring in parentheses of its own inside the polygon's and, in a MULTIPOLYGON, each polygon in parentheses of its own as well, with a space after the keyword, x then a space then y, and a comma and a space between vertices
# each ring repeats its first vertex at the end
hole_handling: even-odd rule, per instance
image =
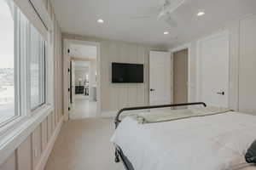
MULTIPOLYGON (((44 65, 44 71, 41 77, 44 88, 44 102, 38 105, 36 108, 31 109, 30 106, 30 37, 31 37, 31 26, 32 23, 26 18, 26 15, 22 13, 19 7, 14 5, 14 84, 15 84, 15 116, 10 117, 3 122, 0 122, 0 142, 2 137, 8 135, 9 132, 19 127, 22 123, 29 120, 30 117, 36 115, 39 112, 49 110, 50 106, 48 103, 48 72, 46 71, 48 65, 48 48, 47 40, 42 38, 44 45, 40 51, 40 64, 44 65), (22 20, 23 19, 23 20, 22 20), (44 55, 44 57, 41 55, 44 55), (43 81, 44 80, 44 81, 43 81)), ((36 28, 35 28, 36 29, 36 28)), ((38 34, 40 34, 38 32, 38 34)), ((41 66, 41 65, 40 65, 41 66)), ((43 91, 40 89, 40 91, 43 91)), ((42 94, 42 93, 41 93, 42 94)))

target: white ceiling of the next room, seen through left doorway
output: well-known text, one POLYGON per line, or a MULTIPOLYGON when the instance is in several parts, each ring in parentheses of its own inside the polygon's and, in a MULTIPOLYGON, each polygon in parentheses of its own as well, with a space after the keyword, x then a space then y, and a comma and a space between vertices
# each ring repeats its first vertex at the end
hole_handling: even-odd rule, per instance
POLYGON ((81 45, 81 44, 70 44, 71 56, 79 59, 96 59, 97 48, 96 46, 81 45))

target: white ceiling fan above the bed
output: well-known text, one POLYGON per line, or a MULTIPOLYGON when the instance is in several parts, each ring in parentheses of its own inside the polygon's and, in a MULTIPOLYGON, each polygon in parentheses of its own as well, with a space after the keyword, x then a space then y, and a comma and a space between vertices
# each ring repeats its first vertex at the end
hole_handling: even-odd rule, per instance
MULTIPOLYGON (((160 12, 158 14, 158 19, 165 20, 169 26, 176 27, 177 20, 174 20, 172 13, 186 3, 187 0, 159 0, 160 12)), ((130 17, 131 20, 142 20, 147 18, 152 18, 153 15, 137 15, 130 17)))

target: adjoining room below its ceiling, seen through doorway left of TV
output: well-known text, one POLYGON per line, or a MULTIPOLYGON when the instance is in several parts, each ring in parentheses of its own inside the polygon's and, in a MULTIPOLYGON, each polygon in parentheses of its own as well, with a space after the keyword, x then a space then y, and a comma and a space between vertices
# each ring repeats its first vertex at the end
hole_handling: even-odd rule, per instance
POLYGON ((72 59, 73 103, 70 119, 96 116, 96 59, 72 59))

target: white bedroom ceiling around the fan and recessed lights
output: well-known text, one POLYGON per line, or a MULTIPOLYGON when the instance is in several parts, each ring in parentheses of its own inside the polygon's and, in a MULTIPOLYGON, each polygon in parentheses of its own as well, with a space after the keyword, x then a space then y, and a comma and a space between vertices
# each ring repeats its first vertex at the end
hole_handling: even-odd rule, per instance
POLYGON ((177 27, 158 20, 159 0, 52 0, 61 31, 154 45, 172 45, 216 31, 255 13, 256 0, 187 0, 173 13, 177 27), (197 17, 203 9, 205 15, 197 17), (133 20, 137 15, 152 15, 133 20), (98 24, 99 18, 105 22, 98 24), (169 35, 164 35, 169 31, 169 35))

